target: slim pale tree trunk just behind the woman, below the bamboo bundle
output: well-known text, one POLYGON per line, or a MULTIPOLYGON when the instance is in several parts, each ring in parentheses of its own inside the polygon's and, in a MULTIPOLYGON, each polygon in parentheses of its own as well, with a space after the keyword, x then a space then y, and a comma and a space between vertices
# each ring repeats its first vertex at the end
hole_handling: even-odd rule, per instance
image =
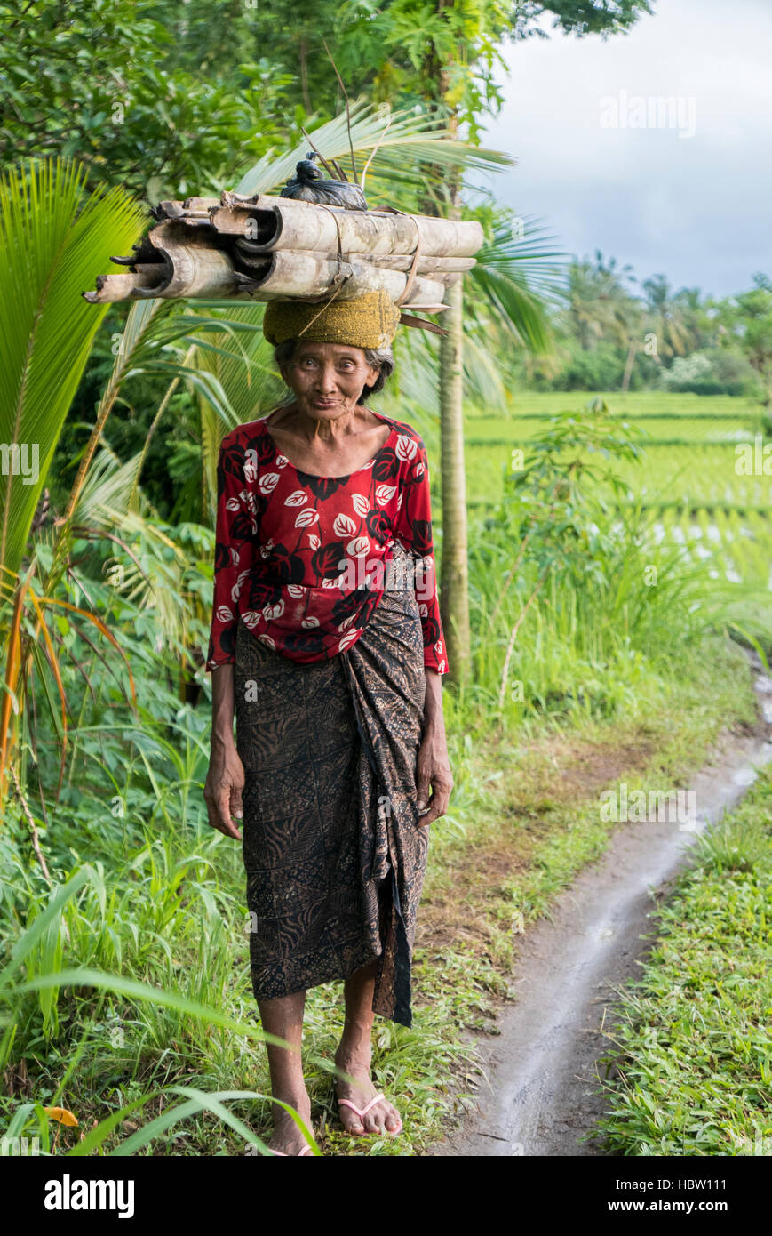
POLYGON ((463 284, 448 289, 440 344, 440 445, 442 476, 442 572, 440 614, 447 645, 448 676, 463 682, 469 672, 469 593, 467 561, 467 486, 463 462, 463 284))

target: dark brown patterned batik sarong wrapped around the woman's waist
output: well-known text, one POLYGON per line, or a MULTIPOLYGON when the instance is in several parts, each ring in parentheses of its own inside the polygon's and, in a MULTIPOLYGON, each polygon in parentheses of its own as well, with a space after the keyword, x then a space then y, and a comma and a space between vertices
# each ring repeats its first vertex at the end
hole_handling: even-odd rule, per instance
POLYGON ((398 586, 345 651, 300 664, 242 620, 235 665, 254 996, 345 979, 377 958, 373 1010, 404 1026, 429 847, 415 782, 424 641, 399 570, 409 561, 394 543, 398 586))

